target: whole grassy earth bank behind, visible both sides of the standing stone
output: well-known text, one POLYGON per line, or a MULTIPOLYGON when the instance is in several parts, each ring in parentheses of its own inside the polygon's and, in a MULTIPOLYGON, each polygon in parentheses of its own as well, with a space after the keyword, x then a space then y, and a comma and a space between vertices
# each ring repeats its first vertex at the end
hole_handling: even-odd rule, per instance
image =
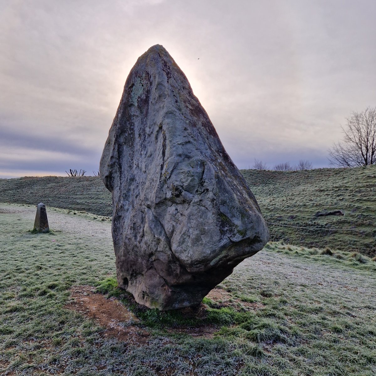
MULTIPOLYGON (((242 170, 268 222, 271 239, 306 247, 330 247, 376 256, 376 165, 309 171, 242 170), (341 210, 344 215, 316 217, 341 210), (348 231, 331 230, 350 228, 348 231)), ((0 202, 45 203, 111 216, 111 194, 100 177, 0 179, 0 202)))

